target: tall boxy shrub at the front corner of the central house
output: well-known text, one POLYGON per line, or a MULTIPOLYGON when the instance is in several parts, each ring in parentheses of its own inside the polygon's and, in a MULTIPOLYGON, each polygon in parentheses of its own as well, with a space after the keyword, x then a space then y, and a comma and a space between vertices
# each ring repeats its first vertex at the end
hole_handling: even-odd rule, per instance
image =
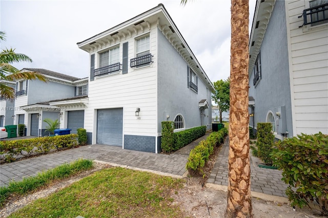
POLYGON ((173 134, 173 122, 172 121, 163 121, 162 122, 162 137, 161 137, 161 148, 166 153, 171 153, 174 143, 174 134, 173 134))

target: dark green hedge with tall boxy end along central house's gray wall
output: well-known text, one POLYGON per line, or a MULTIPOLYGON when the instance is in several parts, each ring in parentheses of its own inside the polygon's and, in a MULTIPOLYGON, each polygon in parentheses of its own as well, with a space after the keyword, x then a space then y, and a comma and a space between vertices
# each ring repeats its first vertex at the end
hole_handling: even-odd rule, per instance
POLYGON ((172 153, 185 147, 189 143, 206 133, 206 126, 195 127, 180 132, 173 132, 173 122, 162 122, 161 149, 165 153, 172 153))

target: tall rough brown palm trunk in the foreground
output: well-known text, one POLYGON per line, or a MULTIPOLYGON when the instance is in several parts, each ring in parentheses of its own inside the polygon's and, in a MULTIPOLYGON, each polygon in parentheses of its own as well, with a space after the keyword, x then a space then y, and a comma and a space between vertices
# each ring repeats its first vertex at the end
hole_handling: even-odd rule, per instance
POLYGON ((229 183, 226 217, 253 217, 248 112, 249 0, 231 0, 229 183))

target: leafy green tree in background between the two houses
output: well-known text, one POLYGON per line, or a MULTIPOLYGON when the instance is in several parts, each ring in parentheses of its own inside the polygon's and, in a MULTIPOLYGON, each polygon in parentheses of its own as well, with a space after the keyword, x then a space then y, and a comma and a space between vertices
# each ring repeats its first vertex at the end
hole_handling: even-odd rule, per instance
POLYGON ((222 123, 222 112, 227 112, 230 107, 230 78, 214 82, 214 88, 212 99, 219 108, 220 123, 222 123))

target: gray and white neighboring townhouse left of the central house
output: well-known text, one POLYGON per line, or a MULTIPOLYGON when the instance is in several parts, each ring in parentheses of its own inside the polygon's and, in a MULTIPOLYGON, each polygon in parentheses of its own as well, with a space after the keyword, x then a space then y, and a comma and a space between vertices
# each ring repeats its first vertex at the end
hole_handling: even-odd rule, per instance
POLYGON ((24 68, 22 72, 38 72, 47 78, 47 83, 39 80, 16 83, 13 123, 25 124, 26 135, 49 134, 45 132, 48 126, 43 122, 45 118, 58 119, 60 128, 71 128, 71 133, 76 133, 78 127, 84 127, 88 78, 80 79, 38 68, 24 68), (76 101, 81 103, 76 104, 76 101))

